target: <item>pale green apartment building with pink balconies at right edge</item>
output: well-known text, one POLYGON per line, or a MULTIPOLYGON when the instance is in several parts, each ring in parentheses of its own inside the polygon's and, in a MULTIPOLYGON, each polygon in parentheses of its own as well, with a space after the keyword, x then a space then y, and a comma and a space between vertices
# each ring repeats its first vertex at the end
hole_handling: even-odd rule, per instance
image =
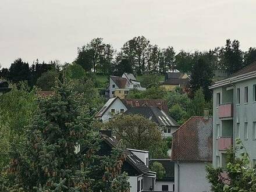
POLYGON ((236 138, 241 139, 255 165, 256 62, 209 88, 214 94, 213 165, 225 168, 226 150, 236 146, 236 138))

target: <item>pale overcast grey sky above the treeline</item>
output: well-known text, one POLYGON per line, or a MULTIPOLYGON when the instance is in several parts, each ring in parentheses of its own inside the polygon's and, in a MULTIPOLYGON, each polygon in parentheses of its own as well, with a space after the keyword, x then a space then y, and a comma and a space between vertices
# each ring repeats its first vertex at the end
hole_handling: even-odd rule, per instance
POLYGON ((255 31, 255 0, 0 0, 0 63, 72 62, 77 47, 95 37, 119 49, 144 35, 176 51, 236 38, 246 50, 256 47, 255 31))

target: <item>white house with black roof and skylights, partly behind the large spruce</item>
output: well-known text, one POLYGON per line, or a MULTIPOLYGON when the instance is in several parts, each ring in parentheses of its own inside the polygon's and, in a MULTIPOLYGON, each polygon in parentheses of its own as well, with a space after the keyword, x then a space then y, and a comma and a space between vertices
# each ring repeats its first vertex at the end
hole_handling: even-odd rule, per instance
MULTIPOLYGON (((99 155, 110 155, 112 148, 119 145, 119 141, 112 137, 111 130, 101 130, 101 148, 99 155)), ((148 151, 126 148, 123 150, 125 162, 122 172, 128 174, 130 191, 154 191, 156 173, 148 168, 148 151)))

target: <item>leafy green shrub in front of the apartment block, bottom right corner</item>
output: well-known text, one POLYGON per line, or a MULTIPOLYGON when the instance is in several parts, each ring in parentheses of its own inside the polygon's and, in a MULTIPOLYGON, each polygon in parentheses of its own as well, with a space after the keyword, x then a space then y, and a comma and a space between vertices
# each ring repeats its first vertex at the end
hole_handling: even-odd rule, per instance
POLYGON ((256 169, 251 165, 251 159, 240 139, 236 140, 237 148, 244 150, 240 157, 235 152, 227 151, 226 168, 213 168, 208 165, 207 179, 211 183, 213 191, 255 191, 256 190, 256 169), (223 174, 225 173, 225 174, 223 174), (226 176, 223 176, 226 175, 226 176))

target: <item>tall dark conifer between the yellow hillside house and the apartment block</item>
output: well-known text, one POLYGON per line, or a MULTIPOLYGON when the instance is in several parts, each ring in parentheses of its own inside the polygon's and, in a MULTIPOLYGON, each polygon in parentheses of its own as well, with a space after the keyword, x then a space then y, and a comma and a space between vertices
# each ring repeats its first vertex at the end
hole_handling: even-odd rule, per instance
POLYGON ((190 91, 192 96, 200 87, 202 87, 205 99, 209 101, 212 97, 212 93, 208 87, 211 86, 213 75, 213 70, 208 64, 208 59, 205 56, 200 56, 199 59, 196 59, 193 65, 190 81, 190 91))

